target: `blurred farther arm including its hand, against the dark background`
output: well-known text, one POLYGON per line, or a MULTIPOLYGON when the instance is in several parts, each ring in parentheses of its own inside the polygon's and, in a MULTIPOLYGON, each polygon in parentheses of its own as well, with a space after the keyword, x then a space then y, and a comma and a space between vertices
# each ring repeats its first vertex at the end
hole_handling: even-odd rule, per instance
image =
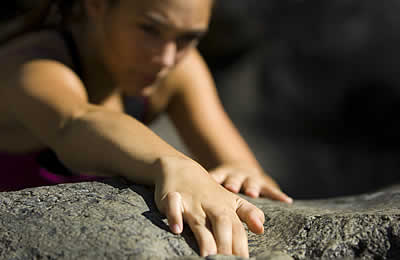
POLYGON ((225 113, 206 64, 197 51, 182 62, 165 84, 176 88, 168 107, 174 125, 202 165, 232 192, 291 202, 263 172, 225 113))

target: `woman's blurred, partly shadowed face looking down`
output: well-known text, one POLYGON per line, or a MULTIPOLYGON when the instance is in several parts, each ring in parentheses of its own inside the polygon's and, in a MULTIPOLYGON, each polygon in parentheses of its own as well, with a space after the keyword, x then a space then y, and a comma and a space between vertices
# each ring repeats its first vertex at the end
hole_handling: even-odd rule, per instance
POLYGON ((96 48, 117 86, 135 95, 165 77, 207 31, 212 1, 88 1, 96 48))

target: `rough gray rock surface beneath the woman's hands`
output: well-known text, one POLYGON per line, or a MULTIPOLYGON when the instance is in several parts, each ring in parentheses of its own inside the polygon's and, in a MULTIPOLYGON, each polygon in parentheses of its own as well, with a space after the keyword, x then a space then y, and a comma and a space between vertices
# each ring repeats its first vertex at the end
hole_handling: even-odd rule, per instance
MULTIPOLYGON (((293 205, 249 200, 266 216, 265 233, 249 233, 253 260, 400 258, 400 186, 293 205)), ((188 227, 168 231, 152 190, 122 180, 0 193, 0 222, 0 259, 200 259, 188 227)))

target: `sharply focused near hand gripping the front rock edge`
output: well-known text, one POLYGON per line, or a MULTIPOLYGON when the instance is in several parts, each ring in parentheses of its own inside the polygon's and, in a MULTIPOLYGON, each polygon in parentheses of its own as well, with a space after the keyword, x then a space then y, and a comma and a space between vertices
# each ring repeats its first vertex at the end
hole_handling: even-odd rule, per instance
POLYGON ((179 234, 185 221, 196 237, 201 256, 249 257, 247 233, 241 221, 257 234, 264 232, 264 213, 218 185, 200 165, 181 158, 159 162, 162 177, 155 183, 155 201, 179 234))

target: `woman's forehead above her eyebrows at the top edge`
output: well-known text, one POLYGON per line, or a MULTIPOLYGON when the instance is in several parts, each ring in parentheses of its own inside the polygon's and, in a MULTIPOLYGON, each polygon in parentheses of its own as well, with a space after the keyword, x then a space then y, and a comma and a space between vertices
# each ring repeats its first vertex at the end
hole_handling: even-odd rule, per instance
POLYGON ((176 28, 207 28, 213 0, 122 0, 135 17, 154 18, 176 28))

